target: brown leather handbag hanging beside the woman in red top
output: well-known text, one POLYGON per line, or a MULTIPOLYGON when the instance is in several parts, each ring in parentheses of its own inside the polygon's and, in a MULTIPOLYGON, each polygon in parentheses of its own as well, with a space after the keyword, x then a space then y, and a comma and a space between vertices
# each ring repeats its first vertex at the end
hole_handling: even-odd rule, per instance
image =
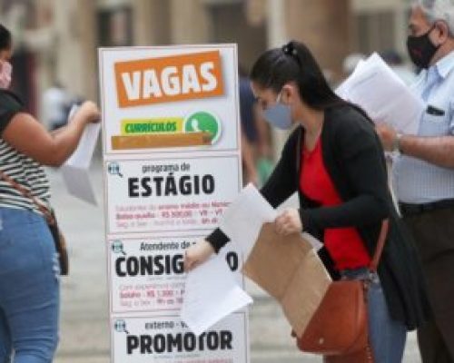
MULTIPOLYGON (((370 262, 370 276, 377 272, 388 229, 385 220, 370 262)), ((368 339, 369 286, 370 280, 333 281, 304 333, 297 337, 298 348, 321 354, 328 363, 373 362, 368 339)))

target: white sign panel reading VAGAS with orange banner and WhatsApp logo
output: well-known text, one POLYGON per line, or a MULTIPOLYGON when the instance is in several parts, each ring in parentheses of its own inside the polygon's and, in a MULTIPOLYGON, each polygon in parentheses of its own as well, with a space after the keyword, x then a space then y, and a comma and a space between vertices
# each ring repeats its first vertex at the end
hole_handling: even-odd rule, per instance
POLYGON ((105 154, 238 152, 234 46, 100 54, 105 154))

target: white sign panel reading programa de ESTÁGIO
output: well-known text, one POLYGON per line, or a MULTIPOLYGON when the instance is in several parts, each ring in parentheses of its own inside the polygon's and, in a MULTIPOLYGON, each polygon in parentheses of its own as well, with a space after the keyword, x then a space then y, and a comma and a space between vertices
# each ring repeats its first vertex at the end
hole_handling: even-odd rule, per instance
POLYGON ((107 162, 110 233, 200 231, 239 193, 237 156, 107 162))

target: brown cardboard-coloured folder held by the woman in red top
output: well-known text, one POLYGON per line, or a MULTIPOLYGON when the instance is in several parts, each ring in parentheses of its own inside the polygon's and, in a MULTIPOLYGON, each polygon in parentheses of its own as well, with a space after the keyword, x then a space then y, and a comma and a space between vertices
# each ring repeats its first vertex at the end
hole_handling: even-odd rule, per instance
POLYGON ((277 299, 301 336, 331 278, 311 243, 300 234, 281 236, 265 223, 242 272, 277 299))

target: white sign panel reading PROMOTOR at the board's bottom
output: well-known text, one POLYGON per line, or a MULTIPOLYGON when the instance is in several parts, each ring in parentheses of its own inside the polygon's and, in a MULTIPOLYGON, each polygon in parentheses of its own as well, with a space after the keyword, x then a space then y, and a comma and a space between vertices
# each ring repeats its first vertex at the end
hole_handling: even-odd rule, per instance
POLYGON ((112 319, 114 363, 241 363, 249 361, 245 314, 233 314, 200 336, 178 317, 112 319))

